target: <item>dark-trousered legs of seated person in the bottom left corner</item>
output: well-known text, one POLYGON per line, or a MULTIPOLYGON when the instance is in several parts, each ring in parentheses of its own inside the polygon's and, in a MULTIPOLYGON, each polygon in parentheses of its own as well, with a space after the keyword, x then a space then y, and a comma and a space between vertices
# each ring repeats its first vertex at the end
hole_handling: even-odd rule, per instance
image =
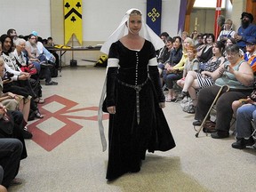
MULTIPOLYGON (((2 129, 2 127, 0 129, 2 129)), ((20 140, 14 138, 0 138, 0 165, 4 170, 2 185, 5 188, 11 185, 21 184, 15 177, 19 172, 22 150, 23 144, 20 140)), ((1 189, 4 191, 3 188, 0 188, 0 191, 1 189)))

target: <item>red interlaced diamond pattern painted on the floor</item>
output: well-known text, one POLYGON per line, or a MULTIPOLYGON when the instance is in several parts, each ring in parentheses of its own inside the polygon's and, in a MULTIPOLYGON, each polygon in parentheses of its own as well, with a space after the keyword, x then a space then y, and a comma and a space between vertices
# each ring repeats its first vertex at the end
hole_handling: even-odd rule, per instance
MULTIPOLYGON (((68 100, 66 98, 60 97, 59 95, 52 95, 49 98, 45 99, 44 104, 38 105, 42 114, 44 114, 44 118, 39 119, 38 121, 29 124, 28 129, 33 134, 33 139, 39 146, 44 148, 47 151, 52 151, 52 149, 58 147, 63 141, 67 140, 73 134, 78 132, 83 128, 82 125, 76 124, 70 119, 84 119, 84 120, 92 120, 97 121, 98 116, 68 116, 68 113, 74 113, 77 111, 91 110, 98 111, 98 107, 88 107, 88 108, 74 108, 78 103, 72 100, 68 100), (49 105, 52 102, 59 102, 64 105, 64 108, 52 113, 46 109, 44 109, 44 105, 49 105), (65 125, 61 127, 58 131, 53 132, 51 135, 40 130, 37 125, 42 124, 42 122, 47 121, 49 118, 54 117, 59 121, 63 122, 65 125)), ((103 115, 103 120, 108 119, 108 114, 103 115)), ((52 124, 54 126, 54 124, 52 124)))

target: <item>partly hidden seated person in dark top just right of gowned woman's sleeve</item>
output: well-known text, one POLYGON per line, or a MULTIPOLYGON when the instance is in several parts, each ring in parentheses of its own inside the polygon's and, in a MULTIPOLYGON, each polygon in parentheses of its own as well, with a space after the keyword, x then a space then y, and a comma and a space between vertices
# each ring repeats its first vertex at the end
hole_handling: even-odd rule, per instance
POLYGON ((158 62, 158 69, 159 69, 159 74, 161 75, 164 67, 165 67, 165 62, 167 60, 169 60, 170 58, 170 53, 172 52, 172 47, 173 47, 173 39, 171 36, 168 36, 166 38, 166 43, 165 46, 163 48, 163 52, 161 52, 161 54, 159 55, 159 57, 157 58, 157 62, 158 62))

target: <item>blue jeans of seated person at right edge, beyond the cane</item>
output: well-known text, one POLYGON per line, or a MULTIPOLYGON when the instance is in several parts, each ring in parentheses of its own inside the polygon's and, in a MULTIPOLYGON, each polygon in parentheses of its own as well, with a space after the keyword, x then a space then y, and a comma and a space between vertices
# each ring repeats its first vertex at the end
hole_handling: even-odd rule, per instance
POLYGON ((248 138, 252 135, 252 119, 256 123, 256 106, 252 104, 244 105, 236 112, 236 137, 248 138))

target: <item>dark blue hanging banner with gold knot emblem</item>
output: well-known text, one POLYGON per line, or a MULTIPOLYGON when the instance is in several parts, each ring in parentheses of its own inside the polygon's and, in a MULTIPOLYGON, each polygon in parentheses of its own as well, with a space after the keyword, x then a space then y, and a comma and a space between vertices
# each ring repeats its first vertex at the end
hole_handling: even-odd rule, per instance
POLYGON ((156 33, 161 34, 162 0, 147 0, 147 24, 156 33))

